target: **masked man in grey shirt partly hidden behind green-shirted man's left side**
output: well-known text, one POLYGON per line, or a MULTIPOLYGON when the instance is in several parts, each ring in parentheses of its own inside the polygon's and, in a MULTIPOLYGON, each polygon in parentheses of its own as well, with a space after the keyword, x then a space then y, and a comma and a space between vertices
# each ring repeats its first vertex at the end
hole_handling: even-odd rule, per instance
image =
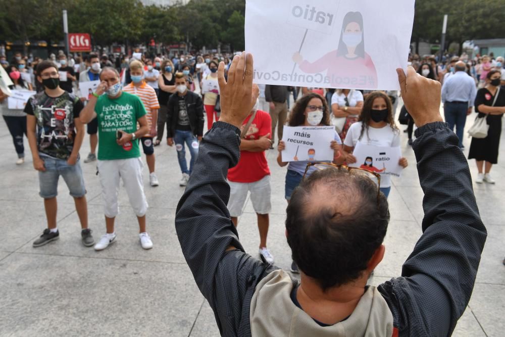
MULTIPOLYGON (((96 54, 88 55, 88 65, 89 68, 85 71, 81 72, 79 76, 80 82, 89 82, 89 81, 97 81, 100 79, 99 74, 102 69, 102 65, 100 65, 100 59, 96 54)), ((87 102, 87 93, 80 93, 81 101, 87 102)), ((94 118, 89 123, 87 123, 87 133, 89 134, 89 148, 90 152, 86 159, 84 159, 84 163, 94 162, 96 160, 96 147, 98 146, 98 120, 94 118)))

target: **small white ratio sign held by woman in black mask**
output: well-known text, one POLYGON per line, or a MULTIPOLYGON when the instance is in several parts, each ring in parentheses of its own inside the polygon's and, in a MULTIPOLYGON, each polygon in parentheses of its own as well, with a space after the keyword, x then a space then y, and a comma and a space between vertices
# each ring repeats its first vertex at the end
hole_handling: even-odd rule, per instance
POLYGON ((358 141, 352 155, 356 157, 355 164, 349 166, 399 177, 403 168, 398 165, 401 158, 400 147, 385 148, 373 145, 365 145, 358 141))

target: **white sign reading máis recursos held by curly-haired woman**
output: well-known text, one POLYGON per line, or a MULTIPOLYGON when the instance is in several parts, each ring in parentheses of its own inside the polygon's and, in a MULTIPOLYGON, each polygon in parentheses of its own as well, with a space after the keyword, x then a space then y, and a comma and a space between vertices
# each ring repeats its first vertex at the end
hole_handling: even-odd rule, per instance
POLYGON ((282 141, 283 162, 332 161, 331 141, 335 139, 335 127, 330 126, 287 126, 284 125, 282 141))

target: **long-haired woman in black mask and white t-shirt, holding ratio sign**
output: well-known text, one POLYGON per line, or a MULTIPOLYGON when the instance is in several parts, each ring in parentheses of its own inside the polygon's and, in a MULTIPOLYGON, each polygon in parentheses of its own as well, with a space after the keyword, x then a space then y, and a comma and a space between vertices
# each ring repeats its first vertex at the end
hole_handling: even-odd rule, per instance
MULTIPOLYGON (((400 146, 400 133, 394 123, 391 101, 382 91, 373 91, 368 95, 359 121, 351 125, 345 136, 343 151, 345 161, 349 164, 356 163, 352 151, 358 142, 386 148, 400 146)), ((398 165, 406 168, 409 165, 407 158, 400 158, 398 165)), ((390 175, 381 175, 380 190, 386 198, 389 196, 390 175)))

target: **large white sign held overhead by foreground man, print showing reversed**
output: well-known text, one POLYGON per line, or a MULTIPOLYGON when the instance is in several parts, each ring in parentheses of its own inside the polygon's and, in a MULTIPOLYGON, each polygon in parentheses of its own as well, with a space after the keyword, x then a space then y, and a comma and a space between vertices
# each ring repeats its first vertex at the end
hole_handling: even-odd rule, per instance
POLYGON ((247 0, 245 50, 254 82, 399 89, 415 0, 247 0), (275 51, 275 53, 272 53, 275 51))

